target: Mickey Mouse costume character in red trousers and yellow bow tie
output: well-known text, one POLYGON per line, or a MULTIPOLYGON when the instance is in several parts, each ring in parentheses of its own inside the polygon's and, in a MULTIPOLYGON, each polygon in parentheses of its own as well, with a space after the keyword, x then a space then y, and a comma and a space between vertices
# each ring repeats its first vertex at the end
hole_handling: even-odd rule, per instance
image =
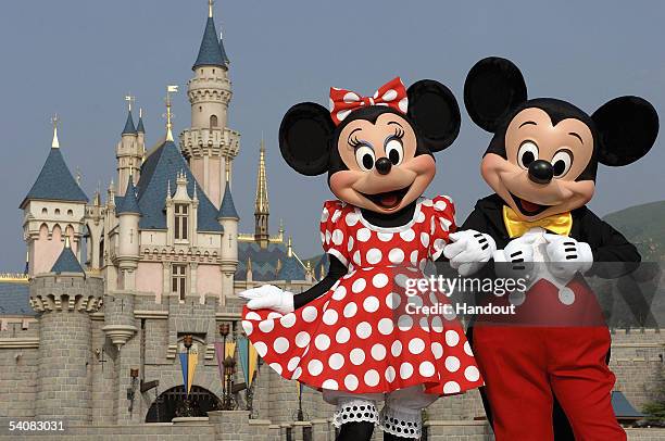
MULTIPOLYGON (((470 70, 464 101, 493 134, 481 174, 495 193, 462 228, 490 235, 499 248, 482 272, 529 280, 526 292, 491 300, 516 305, 514 317, 476 317, 469 332, 497 440, 547 441, 555 432, 557 440, 625 440, 611 403, 610 332, 582 274, 619 277, 640 255, 586 203, 599 163, 623 166, 649 152, 657 114, 638 97, 611 100, 591 116, 565 101, 527 100, 522 73, 500 58, 470 70)), ((446 255, 459 266, 462 250, 452 244, 446 255)))

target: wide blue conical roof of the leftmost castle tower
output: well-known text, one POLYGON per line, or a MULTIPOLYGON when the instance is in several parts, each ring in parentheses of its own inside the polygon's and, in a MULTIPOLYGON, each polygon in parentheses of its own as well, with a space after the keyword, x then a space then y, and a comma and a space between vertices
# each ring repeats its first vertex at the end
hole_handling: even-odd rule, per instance
POLYGON ((59 148, 52 148, 49 152, 37 180, 21 202, 21 209, 29 200, 88 202, 88 197, 72 176, 59 148))

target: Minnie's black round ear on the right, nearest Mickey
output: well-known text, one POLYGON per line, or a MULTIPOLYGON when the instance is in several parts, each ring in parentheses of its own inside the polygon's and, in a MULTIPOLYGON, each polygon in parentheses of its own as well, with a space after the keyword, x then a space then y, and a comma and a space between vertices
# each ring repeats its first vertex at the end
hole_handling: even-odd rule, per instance
POLYGON ((423 138, 424 147, 438 152, 449 147, 460 134, 460 106, 450 89, 439 81, 423 79, 411 85, 409 117, 423 138))

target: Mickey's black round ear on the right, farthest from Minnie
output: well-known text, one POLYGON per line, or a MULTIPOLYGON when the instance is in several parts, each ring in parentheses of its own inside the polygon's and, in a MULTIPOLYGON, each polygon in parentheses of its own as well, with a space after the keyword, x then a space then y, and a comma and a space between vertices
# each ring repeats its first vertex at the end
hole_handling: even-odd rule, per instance
POLYGON ((636 162, 653 147, 658 135, 658 114, 639 97, 619 97, 591 115, 598 131, 598 161, 611 166, 636 162))

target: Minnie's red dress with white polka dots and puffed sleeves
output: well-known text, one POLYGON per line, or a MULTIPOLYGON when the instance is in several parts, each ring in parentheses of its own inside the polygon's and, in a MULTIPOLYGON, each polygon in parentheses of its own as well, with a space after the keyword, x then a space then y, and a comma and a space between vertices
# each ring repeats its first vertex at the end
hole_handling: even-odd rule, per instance
POLYGON ((373 226, 357 207, 328 201, 323 247, 348 274, 286 315, 246 307, 242 327, 273 369, 316 389, 388 393, 424 385, 426 392, 446 395, 480 387, 454 314, 413 313, 413 306, 447 302, 446 295, 406 289, 409 279, 423 277, 428 260, 439 257, 454 229, 447 197, 422 199, 413 219, 394 228, 373 226))

